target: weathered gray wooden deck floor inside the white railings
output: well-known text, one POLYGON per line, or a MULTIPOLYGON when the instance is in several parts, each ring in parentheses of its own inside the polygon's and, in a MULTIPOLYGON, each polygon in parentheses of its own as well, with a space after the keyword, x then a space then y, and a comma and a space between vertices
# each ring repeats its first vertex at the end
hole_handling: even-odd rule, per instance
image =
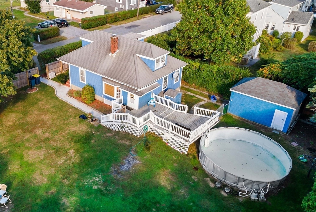
POLYGON ((189 114, 189 113, 180 113, 180 112, 173 112, 173 110, 161 105, 156 104, 156 107, 153 105, 144 106, 139 110, 126 110, 126 113, 130 113, 133 116, 141 117, 152 111, 158 117, 161 117, 169 122, 174 124, 179 124, 180 126, 184 126, 185 128, 194 130, 198 128, 201 124, 205 123, 209 118, 189 114))

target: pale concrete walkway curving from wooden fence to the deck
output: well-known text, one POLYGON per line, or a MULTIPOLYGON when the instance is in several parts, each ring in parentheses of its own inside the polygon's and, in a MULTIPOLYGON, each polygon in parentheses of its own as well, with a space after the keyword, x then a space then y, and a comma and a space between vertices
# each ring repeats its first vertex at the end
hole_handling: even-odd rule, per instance
POLYGON ((66 85, 62 85, 62 84, 59 84, 55 81, 52 81, 50 79, 45 79, 42 77, 40 78, 40 81, 44 84, 52 86, 55 89, 55 94, 58 98, 69 103, 70 105, 74 106, 75 108, 80 109, 84 113, 92 113, 92 115, 94 117, 98 118, 99 120, 101 119, 101 115, 104 115, 104 114, 100 113, 99 111, 96 111, 95 109, 89 107, 88 105, 86 105, 82 102, 79 102, 75 98, 68 96, 67 93, 70 90, 70 88, 67 87, 66 85))

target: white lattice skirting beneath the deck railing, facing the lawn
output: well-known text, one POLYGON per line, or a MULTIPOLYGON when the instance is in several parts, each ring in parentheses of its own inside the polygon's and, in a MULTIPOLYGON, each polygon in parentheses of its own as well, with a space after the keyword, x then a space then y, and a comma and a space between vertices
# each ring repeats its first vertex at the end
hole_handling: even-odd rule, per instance
MULTIPOLYGON (((140 128, 137 128, 128 123, 116 123, 116 122, 102 123, 102 125, 114 131, 127 132, 137 137, 143 135, 143 126, 140 128)), ((186 154, 188 152, 189 145, 182 138, 176 136, 173 133, 168 132, 167 130, 162 131, 160 129, 157 129, 153 127, 152 124, 147 124, 147 125, 148 125, 149 132, 155 133, 156 135, 161 137, 162 140, 166 142, 167 145, 169 145, 173 149, 178 150, 180 153, 186 154)))

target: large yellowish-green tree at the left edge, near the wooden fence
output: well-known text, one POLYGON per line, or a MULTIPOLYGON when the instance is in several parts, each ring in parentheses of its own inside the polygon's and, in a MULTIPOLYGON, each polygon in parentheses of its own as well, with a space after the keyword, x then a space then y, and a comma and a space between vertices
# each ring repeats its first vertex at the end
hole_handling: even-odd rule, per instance
POLYGON ((14 74, 33 67, 37 53, 31 41, 35 29, 11 16, 9 11, 0 10, 0 72, 14 78, 14 74))

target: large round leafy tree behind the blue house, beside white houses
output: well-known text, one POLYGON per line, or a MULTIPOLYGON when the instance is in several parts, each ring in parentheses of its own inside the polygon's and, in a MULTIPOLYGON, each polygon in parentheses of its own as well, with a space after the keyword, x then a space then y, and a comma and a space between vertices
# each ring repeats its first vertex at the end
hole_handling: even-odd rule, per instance
POLYGON ((256 28, 246 0, 183 0, 181 21, 171 31, 175 52, 204 55, 218 65, 239 61, 253 47, 256 28))

